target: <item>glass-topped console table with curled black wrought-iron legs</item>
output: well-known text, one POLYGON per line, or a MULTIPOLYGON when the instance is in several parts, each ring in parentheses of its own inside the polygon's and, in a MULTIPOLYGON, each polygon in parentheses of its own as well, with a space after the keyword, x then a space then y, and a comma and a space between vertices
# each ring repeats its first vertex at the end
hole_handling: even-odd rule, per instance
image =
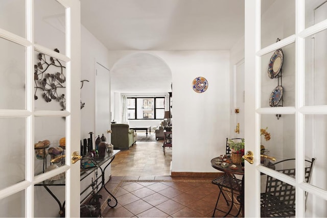
MULTIPOLYGON (((105 187, 105 170, 110 165, 110 163, 113 161, 115 155, 119 152, 120 152, 120 150, 113 150, 113 152, 110 153, 104 160, 94 160, 94 159, 88 159, 88 158, 82 159, 82 160, 86 160, 86 159, 90 160, 92 163, 94 163, 95 166, 90 167, 90 168, 85 168, 85 169, 81 168, 80 181, 84 180, 92 173, 95 173, 95 178, 93 179, 93 177, 92 177, 92 182, 81 191, 81 194, 80 194, 81 196, 83 195, 83 193, 86 193, 86 196, 83 199, 81 199, 81 201, 80 201, 81 204, 90 196, 92 196, 92 198, 95 197, 97 195, 97 193, 100 191, 100 189, 104 188, 109 193, 109 195, 112 197, 112 199, 114 200, 114 204, 110 205, 111 199, 109 198, 107 201, 108 206, 109 207, 117 206, 117 204, 118 204, 117 199, 105 187), (106 163, 107 161, 109 161, 109 162, 103 167, 103 164, 106 163), (99 169, 100 169, 100 175, 98 173, 99 169), (90 187, 91 187, 91 190, 89 192, 87 192, 87 190, 90 187)), ((60 217, 65 217, 65 201, 63 203, 61 203, 59 201, 59 199, 54 195, 54 193, 50 189, 51 186, 65 186, 65 179, 53 180, 53 181, 45 180, 43 182, 35 184, 35 186, 43 186, 50 193, 50 195, 57 201, 57 203, 59 205, 60 217)), ((92 198, 91 198, 91 200, 92 200, 92 198)))

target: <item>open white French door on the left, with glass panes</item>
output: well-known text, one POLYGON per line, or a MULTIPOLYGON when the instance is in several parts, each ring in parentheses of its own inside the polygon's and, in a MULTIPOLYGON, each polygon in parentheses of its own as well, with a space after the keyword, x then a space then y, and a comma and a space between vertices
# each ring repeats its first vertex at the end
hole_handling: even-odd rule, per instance
POLYGON ((78 217, 80 166, 71 154, 80 149, 80 2, 3 0, 0 14, 0 216, 58 216, 38 186, 53 180, 61 213, 78 217))

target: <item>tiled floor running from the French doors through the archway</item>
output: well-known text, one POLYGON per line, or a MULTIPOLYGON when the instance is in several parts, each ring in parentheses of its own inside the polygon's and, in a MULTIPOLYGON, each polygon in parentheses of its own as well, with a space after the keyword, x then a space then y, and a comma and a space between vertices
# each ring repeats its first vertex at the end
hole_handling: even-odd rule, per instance
MULTIPOLYGON (((212 217, 219 193, 211 183, 214 178, 170 177, 172 149, 165 156, 161 146, 162 141, 137 142, 115 157, 106 188, 118 205, 106 206, 106 193, 101 190, 103 217, 212 217)), ((227 208, 221 199, 218 207, 227 208)))

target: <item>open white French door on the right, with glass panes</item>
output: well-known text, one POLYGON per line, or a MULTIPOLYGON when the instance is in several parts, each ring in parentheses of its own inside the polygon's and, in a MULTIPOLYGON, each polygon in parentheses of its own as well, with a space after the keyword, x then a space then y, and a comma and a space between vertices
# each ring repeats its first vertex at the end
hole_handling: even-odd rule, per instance
MULTIPOLYGON (((295 187, 296 217, 327 216, 324 2, 245 1, 245 150, 254 154, 254 163, 245 165, 246 217, 267 212, 261 207, 267 176, 295 187), (270 137, 261 135, 261 129, 270 137), (261 144, 276 161, 261 164, 261 144), (305 160, 312 158, 308 181, 305 160), (267 165, 286 159, 295 161, 276 164, 276 170, 267 165), (295 175, 279 171, 293 168, 295 175)), ((291 192, 283 203, 293 198, 291 192)))

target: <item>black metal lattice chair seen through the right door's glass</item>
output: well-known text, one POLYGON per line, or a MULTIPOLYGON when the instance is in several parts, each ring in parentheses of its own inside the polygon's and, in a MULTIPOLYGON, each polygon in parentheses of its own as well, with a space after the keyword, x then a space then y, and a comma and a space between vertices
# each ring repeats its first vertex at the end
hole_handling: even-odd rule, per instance
MULTIPOLYGON (((274 163, 275 170, 295 178, 295 159, 274 163)), ((305 182, 310 182, 315 159, 306 160, 305 182)), ((295 187, 267 175, 266 191, 261 193, 261 217, 295 216, 295 187)))

